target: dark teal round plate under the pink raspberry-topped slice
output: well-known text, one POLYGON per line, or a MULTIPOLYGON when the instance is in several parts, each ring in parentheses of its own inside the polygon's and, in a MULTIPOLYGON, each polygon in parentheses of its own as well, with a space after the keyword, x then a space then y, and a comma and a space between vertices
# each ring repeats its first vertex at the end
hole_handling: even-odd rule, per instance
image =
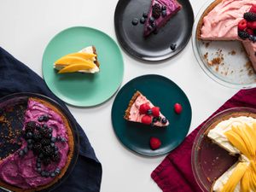
POLYGON ((191 122, 191 107, 188 97, 172 80, 160 75, 144 75, 132 79, 119 90, 112 107, 113 130, 119 141, 126 148, 138 154, 156 156, 166 154, 183 142, 191 122), (125 109, 133 94, 141 91, 155 106, 160 107, 169 120, 167 127, 151 127, 124 119, 125 109), (174 112, 173 105, 178 102, 183 106, 183 112, 174 112), (158 137, 160 148, 152 150, 149 146, 150 137, 158 137))

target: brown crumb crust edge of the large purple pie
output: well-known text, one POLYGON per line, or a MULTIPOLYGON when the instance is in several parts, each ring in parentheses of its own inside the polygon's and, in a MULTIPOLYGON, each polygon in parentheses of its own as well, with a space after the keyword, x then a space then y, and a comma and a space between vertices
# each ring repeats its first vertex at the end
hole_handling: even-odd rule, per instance
POLYGON ((67 137, 68 137, 67 143, 68 143, 69 151, 68 151, 68 154, 67 154, 67 163, 61 169, 60 174, 58 174, 53 181, 51 181, 50 183, 48 183, 46 185, 38 186, 37 188, 33 188, 33 189, 20 189, 20 188, 17 188, 15 186, 13 186, 13 185, 8 184, 8 183, 4 183, 3 181, 0 180, 0 186, 1 187, 5 188, 5 189, 12 190, 12 191, 15 191, 15 192, 34 192, 34 191, 49 188, 53 184, 57 183, 59 181, 59 179, 61 179, 61 177, 63 177, 65 175, 65 173, 67 172, 67 168, 70 165, 71 160, 73 159, 73 151, 74 151, 73 131, 71 130, 71 127, 70 127, 70 125, 67 121, 67 118, 61 113, 61 111, 58 108, 53 106, 51 103, 46 102, 46 101, 44 101, 42 99, 39 99, 39 98, 35 98, 35 97, 29 97, 29 99, 32 99, 34 101, 43 103, 46 107, 52 109, 53 111, 55 111, 55 113, 58 113, 61 116, 61 119, 64 121, 64 124, 66 126, 67 137))

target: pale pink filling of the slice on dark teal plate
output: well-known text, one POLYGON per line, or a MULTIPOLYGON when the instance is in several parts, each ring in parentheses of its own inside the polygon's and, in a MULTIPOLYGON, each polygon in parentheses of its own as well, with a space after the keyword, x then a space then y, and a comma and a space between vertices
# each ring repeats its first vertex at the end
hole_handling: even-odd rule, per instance
MULTIPOLYGON (((143 95, 137 96, 136 101, 131 106, 129 120, 142 123, 142 118, 143 118, 144 114, 141 114, 139 112, 139 108, 144 103, 148 103, 150 108, 154 107, 154 105, 151 102, 149 102, 145 96, 143 96, 143 95)), ((161 119, 165 118, 165 116, 162 113, 160 113, 160 117, 161 117, 161 119)), ((165 125, 163 125, 160 121, 157 121, 154 123, 154 125, 167 126, 167 125, 169 125, 169 121, 167 121, 167 123, 165 125)))

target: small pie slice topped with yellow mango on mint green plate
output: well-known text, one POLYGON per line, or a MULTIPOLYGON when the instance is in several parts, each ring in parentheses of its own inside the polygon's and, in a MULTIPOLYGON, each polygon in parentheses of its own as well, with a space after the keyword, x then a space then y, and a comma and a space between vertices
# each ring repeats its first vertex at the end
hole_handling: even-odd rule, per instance
POLYGON ((95 46, 85 47, 77 53, 62 56, 55 61, 54 68, 58 73, 98 73, 100 63, 97 60, 95 46))

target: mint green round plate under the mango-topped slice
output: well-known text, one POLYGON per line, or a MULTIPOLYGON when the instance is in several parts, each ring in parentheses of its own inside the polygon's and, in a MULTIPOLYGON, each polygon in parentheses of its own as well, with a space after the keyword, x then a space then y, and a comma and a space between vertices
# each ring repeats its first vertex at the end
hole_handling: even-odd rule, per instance
POLYGON ((104 32, 75 26, 58 33, 47 45, 43 56, 43 75, 49 89, 73 106, 90 107, 113 96, 122 82, 123 57, 118 45, 104 32), (63 55, 94 45, 100 72, 58 74, 53 63, 63 55))

